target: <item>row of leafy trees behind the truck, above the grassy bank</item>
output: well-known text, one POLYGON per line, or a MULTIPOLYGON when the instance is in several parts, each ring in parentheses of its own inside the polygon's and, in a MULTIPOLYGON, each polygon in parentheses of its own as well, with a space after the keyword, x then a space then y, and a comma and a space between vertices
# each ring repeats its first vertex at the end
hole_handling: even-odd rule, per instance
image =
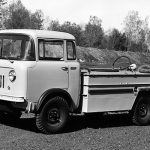
POLYGON ((68 32, 75 36, 77 45, 81 47, 148 53, 150 51, 148 21, 149 18, 141 18, 138 11, 130 11, 122 21, 124 27, 122 31, 116 28, 104 31, 102 20, 97 16, 90 16, 84 25, 69 21, 60 24, 59 20, 45 19, 41 10, 31 12, 21 0, 9 4, 7 0, 0 0, 1 29, 46 29, 68 32))

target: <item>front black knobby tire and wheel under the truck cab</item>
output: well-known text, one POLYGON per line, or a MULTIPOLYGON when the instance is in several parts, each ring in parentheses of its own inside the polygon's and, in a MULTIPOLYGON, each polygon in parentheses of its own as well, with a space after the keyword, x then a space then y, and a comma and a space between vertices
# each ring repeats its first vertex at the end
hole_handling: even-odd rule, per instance
POLYGON ((36 115, 37 128, 46 134, 58 133, 64 130, 68 121, 68 104, 62 97, 50 99, 36 115))

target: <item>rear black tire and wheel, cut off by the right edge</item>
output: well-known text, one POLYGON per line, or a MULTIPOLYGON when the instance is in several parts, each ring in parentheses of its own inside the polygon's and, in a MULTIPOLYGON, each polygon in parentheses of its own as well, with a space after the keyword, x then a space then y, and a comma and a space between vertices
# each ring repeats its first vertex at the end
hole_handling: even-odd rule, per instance
POLYGON ((150 100, 140 98, 133 112, 132 121, 136 125, 150 124, 150 100))

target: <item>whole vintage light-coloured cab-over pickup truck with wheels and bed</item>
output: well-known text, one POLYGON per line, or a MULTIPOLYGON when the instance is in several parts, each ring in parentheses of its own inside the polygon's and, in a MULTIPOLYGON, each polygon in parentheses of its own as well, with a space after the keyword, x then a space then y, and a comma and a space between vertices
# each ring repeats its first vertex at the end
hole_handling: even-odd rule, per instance
POLYGON ((44 30, 0 31, 0 112, 34 113, 44 133, 64 130, 70 114, 128 111, 150 123, 150 73, 126 56, 111 68, 81 69, 74 36, 44 30), (118 65, 126 59, 127 65, 118 65))

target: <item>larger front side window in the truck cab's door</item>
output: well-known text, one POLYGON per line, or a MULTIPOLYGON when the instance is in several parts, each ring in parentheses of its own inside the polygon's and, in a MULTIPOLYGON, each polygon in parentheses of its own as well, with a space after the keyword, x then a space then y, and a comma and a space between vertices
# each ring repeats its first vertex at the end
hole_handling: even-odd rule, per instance
POLYGON ((63 60, 64 42, 39 40, 40 60, 63 60))

